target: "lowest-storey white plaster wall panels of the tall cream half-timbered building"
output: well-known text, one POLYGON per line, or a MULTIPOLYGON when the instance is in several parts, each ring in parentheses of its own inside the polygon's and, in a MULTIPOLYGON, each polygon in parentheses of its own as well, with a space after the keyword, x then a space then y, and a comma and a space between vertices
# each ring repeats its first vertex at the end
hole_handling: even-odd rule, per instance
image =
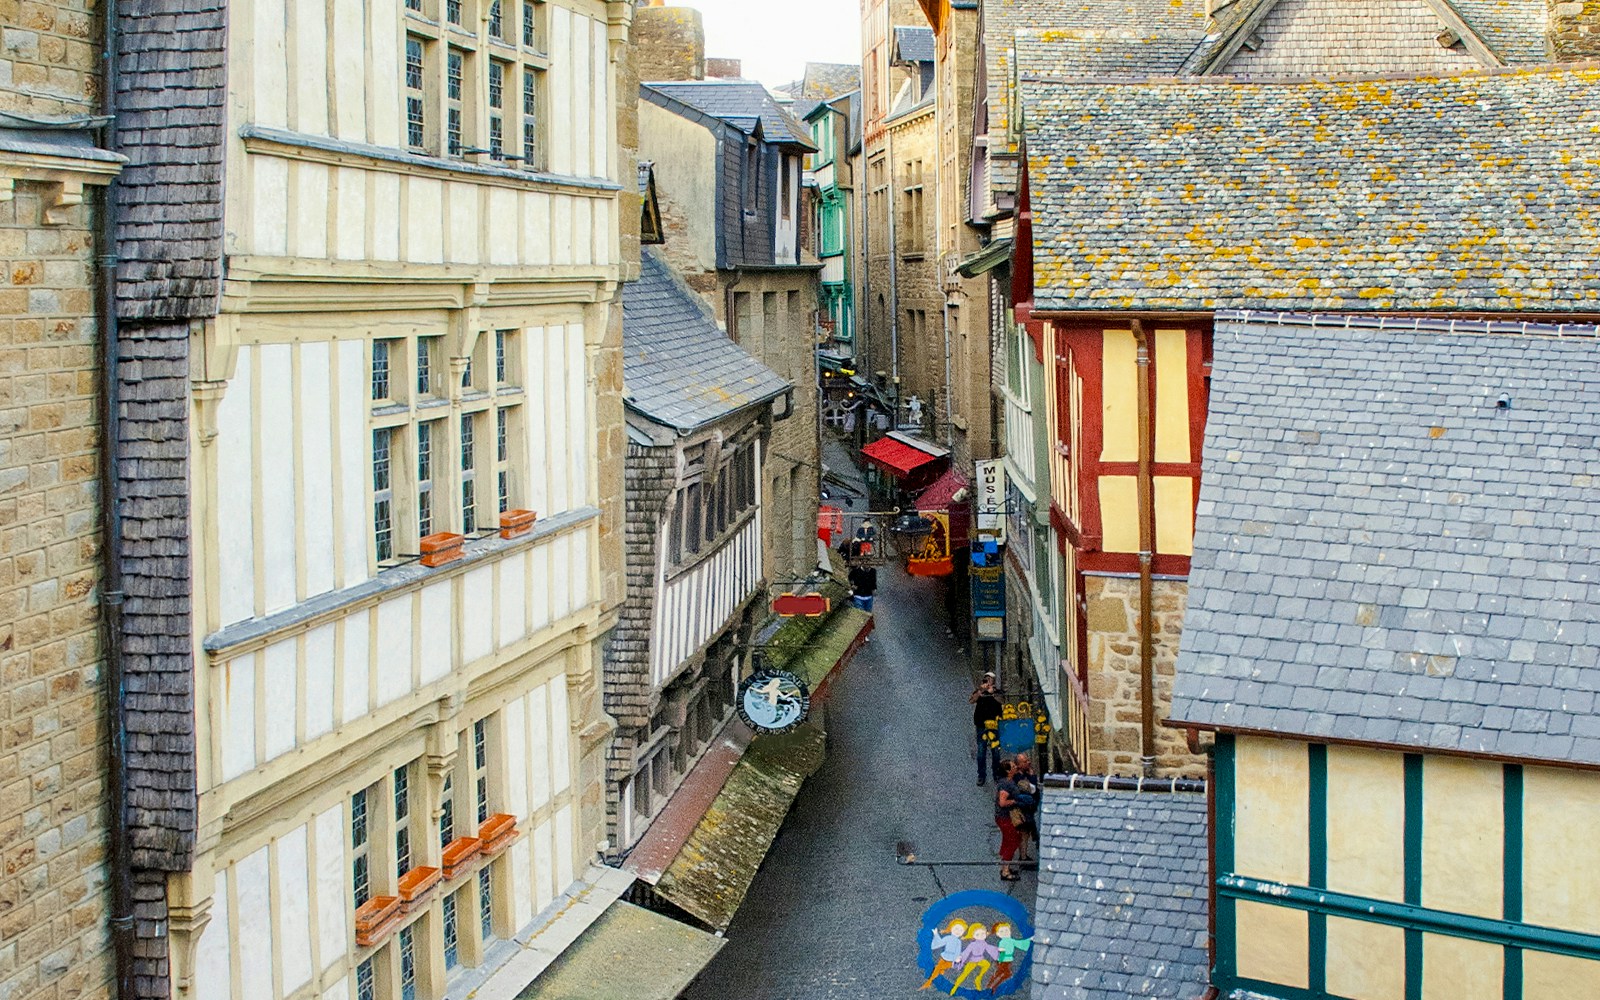
MULTIPOLYGON (((474 766, 472 734, 477 722, 486 728, 485 778, 493 810, 517 818, 518 835, 493 859, 477 862, 435 891, 432 904, 405 918, 414 931, 418 981, 450 970, 443 965, 434 925, 424 915, 443 907, 446 894, 470 914, 474 947, 480 952, 509 941, 528 928, 534 915, 571 885, 576 835, 576 755, 568 734, 566 664, 563 656, 541 664, 534 686, 523 694, 488 691, 470 698, 459 720, 462 752, 454 776, 474 766), (469 723, 470 720, 470 723, 469 723), (509 891, 483 891, 477 872, 488 866, 491 885, 509 891)), ((210 923, 195 947, 194 997, 197 1000, 277 1000, 320 997, 350 1000, 357 982, 392 984, 398 963, 398 931, 376 947, 354 944, 357 859, 371 893, 392 893, 395 837, 406 826, 421 853, 432 835, 435 787, 424 790, 434 766, 421 733, 392 747, 410 762, 406 819, 395 816, 392 762, 373 760, 339 782, 317 787, 314 797, 286 814, 274 813, 248 824, 219 848, 211 864, 210 923), (355 797, 362 795, 360 805, 355 797), (357 810, 362 816, 357 818, 357 810), (362 835, 354 830, 360 827, 362 835), (368 979, 370 978, 370 979, 368 979)), ((446 765, 450 766, 450 765, 446 765)), ((456 781, 458 814, 469 805, 459 795, 469 782, 456 781)), ((435 914, 437 915, 437 914, 435 914)), ((466 917, 462 917, 466 922, 466 917)), ((378 994, 387 995, 387 994, 378 994)), ((395 995, 398 995, 395 992, 395 995)), ((422 994, 419 994, 422 995, 422 994)))

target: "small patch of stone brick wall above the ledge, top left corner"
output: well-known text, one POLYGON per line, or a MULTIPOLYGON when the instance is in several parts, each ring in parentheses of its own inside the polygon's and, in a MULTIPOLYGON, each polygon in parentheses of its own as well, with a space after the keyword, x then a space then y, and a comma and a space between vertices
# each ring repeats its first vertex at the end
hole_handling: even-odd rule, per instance
POLYGON ((0 110, 99 107, 98 11, 93 0, 0 0, 0 110))

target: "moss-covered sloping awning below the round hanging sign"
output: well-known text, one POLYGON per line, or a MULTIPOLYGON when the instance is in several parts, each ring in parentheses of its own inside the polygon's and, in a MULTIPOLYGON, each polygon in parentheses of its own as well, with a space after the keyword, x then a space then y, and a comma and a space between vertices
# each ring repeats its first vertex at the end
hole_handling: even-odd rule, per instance
MULTIPOLYGON (((726 930, 800 786, 822 766, 824 741, 822 730, 813 723, 790 733, 757 736, 683 850, 661 874, 656 893, 696 920, 726 930)), ((627 992, 613 995, 632 997, 627 992)))

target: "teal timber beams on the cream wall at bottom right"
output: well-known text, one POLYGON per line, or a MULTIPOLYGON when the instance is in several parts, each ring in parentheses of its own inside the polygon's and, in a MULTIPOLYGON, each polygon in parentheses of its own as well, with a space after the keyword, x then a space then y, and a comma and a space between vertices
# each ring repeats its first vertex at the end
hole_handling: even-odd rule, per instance
MULTIPOLYGON (((1294 741, 1301 742, 1301 741, 1294 741)), ((1234 736, 1219 733, 1213 750, 1213 794, 1216 826, 1213 856, 1216 882, 1211 912, 1216 915, 1216 942, 1211 982, 1224 995, 1243 989, 1282 1000, 1347 1000, 1326 990, 1328 917, 1365 920, 1405 930, 1405 995, 1422 997, 1422 934, 1448 934, 1498 944, 1506 952, 1504 1000, 1522 1000, 1523 952, 1552 952, 1600 962, 1600 934, 1565 931, 1522 920, 1523 778, 1522 766, 1504 766, 1504 910, 1501 918, 1474 917, 1421 906, 1422 899, 1422 762, 1421 754, 1405 755, 1405 902, 1352 896, 1326 888, 1328 872, 1328 749, 1307 744, 1310 832, 1307 870, 1310 885, 1286 885, 1250 878, 1235 872, 1234 821, 1237 816, 1237 766, 1234 736), (1262 982, 1238 974, 1237 901, 1266 902, 1307 914, 1309 989, 1262 982)))

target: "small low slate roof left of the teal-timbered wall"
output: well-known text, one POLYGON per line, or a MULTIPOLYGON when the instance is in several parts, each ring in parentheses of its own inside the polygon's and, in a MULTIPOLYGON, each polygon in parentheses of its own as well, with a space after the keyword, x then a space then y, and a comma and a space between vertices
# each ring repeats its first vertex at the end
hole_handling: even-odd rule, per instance
POLYGON ((1034 1000, 1206 987, 1206 797, 1045 787, 1034 1000))

